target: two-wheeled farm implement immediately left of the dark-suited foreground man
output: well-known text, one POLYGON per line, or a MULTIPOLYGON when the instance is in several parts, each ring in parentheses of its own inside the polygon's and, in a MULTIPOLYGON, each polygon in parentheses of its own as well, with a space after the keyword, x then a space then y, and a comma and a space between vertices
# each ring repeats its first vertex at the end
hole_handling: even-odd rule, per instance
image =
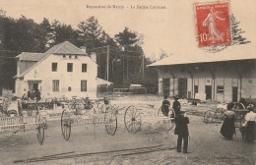
MULTIPOLYGON (((158 121, 159 124, 162 124, 166 131, 170 131, 174 127, 174 118, 170 118, 169 116, 164 116, 161 113, 160 107, 158 114, 155 117, 144 117, 143 120, 145 121, 158 121)), ((171 109, 172 112, 174 112, 171 109)), ((170 111, 170 112, 171 112, 170 111)), ((141 130, 142 126, 142 117, 140 110, 135 106, 129 106, 124 114, 124 125, 126 130, 131 134, 136 134, 138 131, 141 130)))

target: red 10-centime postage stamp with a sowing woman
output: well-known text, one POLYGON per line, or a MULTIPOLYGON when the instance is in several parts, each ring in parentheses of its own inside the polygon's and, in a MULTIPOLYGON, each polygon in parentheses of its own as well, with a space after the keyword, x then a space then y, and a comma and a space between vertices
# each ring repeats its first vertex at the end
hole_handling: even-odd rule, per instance
POLYGON ((195 4, 198 46, 227 45, 232 41, 229 2, 195 4))

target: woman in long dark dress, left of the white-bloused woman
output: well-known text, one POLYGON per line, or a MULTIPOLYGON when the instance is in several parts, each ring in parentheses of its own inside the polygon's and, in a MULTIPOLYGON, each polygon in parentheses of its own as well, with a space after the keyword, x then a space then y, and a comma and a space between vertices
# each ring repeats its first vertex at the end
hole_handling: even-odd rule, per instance
POLYGON ((235 134, 235 113, 231 111, 233 104, 227 104, 227 110, 224 112, 224 124, 221 129, 221 134, 225 139, 232 139, 235 134))

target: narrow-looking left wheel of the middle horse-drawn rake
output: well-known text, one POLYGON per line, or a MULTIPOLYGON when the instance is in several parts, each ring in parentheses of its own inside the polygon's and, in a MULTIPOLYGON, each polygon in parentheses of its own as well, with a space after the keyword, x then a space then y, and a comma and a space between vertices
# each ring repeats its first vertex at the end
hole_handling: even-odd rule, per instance
POLYGON ((64 139, 69 140, 71 135, 71 119, 70 114, 63 110, 61 114, 61 133, 64 139))

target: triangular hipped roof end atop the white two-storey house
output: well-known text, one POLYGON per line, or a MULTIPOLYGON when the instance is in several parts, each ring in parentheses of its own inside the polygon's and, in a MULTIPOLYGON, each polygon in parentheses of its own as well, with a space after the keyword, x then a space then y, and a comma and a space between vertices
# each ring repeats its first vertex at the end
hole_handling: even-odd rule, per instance
POLYGON ((69 41, 65 41, 59 44, 56 44, 45 53, 47 54, 75 54, 75 55, 85 55, 86 53, 82 51, 80 48, 70 43, 69 41))

